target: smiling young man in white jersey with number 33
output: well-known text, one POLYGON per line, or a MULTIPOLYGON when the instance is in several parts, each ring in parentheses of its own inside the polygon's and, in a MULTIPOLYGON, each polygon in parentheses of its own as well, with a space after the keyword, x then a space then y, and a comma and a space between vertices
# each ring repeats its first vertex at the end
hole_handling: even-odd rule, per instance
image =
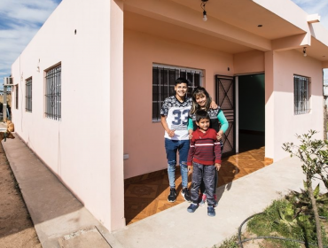
POLYGON ((165 150, 168 159, 168 182, 170 192, 169 202, 176 201, 176 151, 179 151, 179 163, 182 176, 183 190, 181 194, 186 201, 190 201, 188 190, 187 156, 189 151, 188 113, 192 99, 186 97, 188 81, 184 78, 176 79, 176 95, 165 99, 161 107, 161 125, 165 129, 165 150))

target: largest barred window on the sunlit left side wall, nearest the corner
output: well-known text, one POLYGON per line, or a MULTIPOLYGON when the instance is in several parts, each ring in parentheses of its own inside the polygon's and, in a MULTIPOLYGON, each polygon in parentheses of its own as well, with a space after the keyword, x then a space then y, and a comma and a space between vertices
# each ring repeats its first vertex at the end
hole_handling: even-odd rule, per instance
POLYGON ((52 67, 45 74, 45 116, 61 120, 61 65, 52 67))

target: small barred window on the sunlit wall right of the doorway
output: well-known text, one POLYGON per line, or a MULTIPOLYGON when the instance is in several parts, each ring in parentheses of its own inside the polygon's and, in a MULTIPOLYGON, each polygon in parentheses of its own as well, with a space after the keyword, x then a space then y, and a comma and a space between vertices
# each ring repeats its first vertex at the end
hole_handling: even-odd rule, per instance
POLYGON ((310 79, 300 75, 293 75, 294 114, 310 112, 310 97, 310 79))

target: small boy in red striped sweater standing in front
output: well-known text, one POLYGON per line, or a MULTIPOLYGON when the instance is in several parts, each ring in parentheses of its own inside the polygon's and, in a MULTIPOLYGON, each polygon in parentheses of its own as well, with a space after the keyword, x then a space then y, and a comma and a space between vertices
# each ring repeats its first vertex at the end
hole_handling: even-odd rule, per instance
POLYGON ((207 191, 207 215, 215 216, 215 170, 221 167, 221 144, 216 140, 216 131, 209 128, 210 119, 207 111, 196 112, 196 125, 192 132, 188 153, 188 170, 192 172, 191 205, 187 211, 194 213, 199 207, 199 187, 203 180, 207 191))

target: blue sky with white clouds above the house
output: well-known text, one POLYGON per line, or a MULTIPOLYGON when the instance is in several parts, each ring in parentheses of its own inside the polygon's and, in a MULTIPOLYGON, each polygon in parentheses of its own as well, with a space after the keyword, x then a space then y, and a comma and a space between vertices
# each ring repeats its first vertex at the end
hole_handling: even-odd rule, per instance
MULTIPOLYGON (((0 89, 3 88, 4 77, 11 74, 12 63, 19 58, 20 53, 60 2, 61 0, 0 1, 0 89)), ((318 13, 321 23, 328 29, 327 0, 293 2, 308 14, 318 13)), ((328 79, 328 70, 324 77, 328 79)))

